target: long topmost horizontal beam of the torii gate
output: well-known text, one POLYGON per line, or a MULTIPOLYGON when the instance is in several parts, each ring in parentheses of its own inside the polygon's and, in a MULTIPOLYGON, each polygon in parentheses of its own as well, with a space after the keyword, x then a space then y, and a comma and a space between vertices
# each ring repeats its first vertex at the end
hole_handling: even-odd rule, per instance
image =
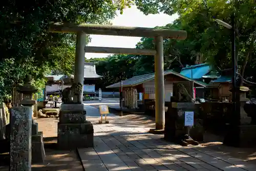
POLYGON ((111 25, 94 25, 94 24, 74 24, 74 23, 51 23, 49 32, 54 33, 78 33, 112 35, 112 36, 132 36, 132 37, 156 37, 180 39, 187 37, 184 30, 170 29, 153 29, 143 27, 124 27, 111 25))

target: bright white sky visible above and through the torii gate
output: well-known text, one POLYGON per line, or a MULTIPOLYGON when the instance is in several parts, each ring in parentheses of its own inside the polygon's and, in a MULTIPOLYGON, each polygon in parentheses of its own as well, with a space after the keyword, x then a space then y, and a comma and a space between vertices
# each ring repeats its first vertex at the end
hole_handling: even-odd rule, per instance
MULTIPOLYGON (((156 26, 165 26, 174 22, 178 18, 178 15, 166 15, 166 14, 150 14, 144 15, 135 6, 132 8, 126 8, 123 14, 117 12, 116 16, 111 23, 116 26, 129 26, 129 27, 148 27, 154 28, 156 26)), ((114 47, 114 48, 135 48, 137 42, 141 37, 126 37, 126 36, 106 36, 106 35, 91 35, 92 41, 88 46, 96 47, 114 47)), ((100 53, 86 53, 86 58, 101 58, 108 57, 110 54, 100 53)))

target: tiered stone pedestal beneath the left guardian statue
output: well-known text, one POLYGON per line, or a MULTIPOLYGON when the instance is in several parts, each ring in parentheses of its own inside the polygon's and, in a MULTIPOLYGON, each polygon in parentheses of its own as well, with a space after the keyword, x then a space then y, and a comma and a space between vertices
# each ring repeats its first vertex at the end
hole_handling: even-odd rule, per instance
POLYGON ((61 104, 58 123, 58 147, 93 147, 93 124, 86 121, 83 104, 61 104))

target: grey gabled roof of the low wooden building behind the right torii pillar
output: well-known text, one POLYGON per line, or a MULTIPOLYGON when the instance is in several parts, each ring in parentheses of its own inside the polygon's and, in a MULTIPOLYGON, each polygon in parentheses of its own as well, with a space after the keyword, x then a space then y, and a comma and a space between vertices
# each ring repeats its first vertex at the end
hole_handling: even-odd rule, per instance
MULTIPOLYGON (((174 74, 176 76, 182 77, 184 79, 187 79, 189 81, 194 81, 195 83, 199 84, 200 86, 205 87, 206 84, 202 83, 201 81, 196 81, 196 80, 192 80, 190 78, 187 78, 177 72, 174 71, 164 71, 164 75, 168 75, 168 74, 174 74)), ((135 76, 126 80, 123 80, 123 87, 133 87, 133 86, 137 86, 139 84, 142 84, 146 81, 150 81, 152 79, 155 78, 155 73, 151 73, 151 74, 145 74, 145 75, 139 75, 139 76, 135 76)), ((121 87, 121 82, 117 82, 115 84, 112 84, 111 86, 107 86, 106 88, 120 88, 121 87)))

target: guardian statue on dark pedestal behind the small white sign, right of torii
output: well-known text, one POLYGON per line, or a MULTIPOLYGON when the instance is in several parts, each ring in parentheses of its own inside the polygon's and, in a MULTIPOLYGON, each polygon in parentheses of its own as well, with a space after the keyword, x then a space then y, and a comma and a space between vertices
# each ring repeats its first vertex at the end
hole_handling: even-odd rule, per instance
MULTIPOLYGON (((174 96, 170 97, 168 111, 165 114, 164 139, 181 145, 198 145, 190 137, 190 126, 185 125, 185 112, 194 112, 193 82, 181 81, 173 85, 174 96)), ((195 120, 193 119, 193 122, 195 120)))

